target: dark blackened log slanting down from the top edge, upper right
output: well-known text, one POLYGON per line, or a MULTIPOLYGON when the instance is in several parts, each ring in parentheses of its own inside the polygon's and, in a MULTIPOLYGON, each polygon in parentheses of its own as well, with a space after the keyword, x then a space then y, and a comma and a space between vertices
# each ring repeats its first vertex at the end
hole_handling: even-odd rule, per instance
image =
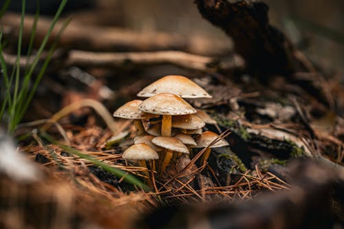
POLYGON ((269 24, 262 2, 195 0, 202 16, 233 38, 252 73, 288 76, 303 67, 286 36, 269 24))

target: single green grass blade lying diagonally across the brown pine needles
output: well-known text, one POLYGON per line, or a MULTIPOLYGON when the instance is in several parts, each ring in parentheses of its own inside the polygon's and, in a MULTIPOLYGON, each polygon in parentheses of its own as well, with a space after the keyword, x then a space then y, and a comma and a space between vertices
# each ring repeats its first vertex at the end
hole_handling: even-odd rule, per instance
POLYGON ((109 166, 108 164, 105 164, 103 162, 100 162, 99 160, 96 160, 96 158, 89 156, 89 155, 85 155, 84 153, 78 151, 77 149, 74 149, 70 146, 65 146, 63 144, 59 144, 58 142, 56 142, 50 135, 48 135, 47 133, 42 133, 41 134, 43 138, 45 138, 47 141, 56 144, 58 147, 60 147, 61 149, 63 149, 64 151, 66 151, 67 153, 71 153, 72 155, 76 155, 78 157, 81 157, 85 160, 88 160, 89 162, 92 162, 93 164, 96 164, 97 166, 100 166, 101 168, 103 168, 105 171, 112 173, 114 175, 116 175, 116 177, 122 178, 124 177, 124 180, 126 182, 128 182, 129 184, 132 184, 134 186, 138 186, 140 188, 142 188, 143 190, 149 190, 148 186, 145 185, 144 183, 142 183, 139 179, 137 179, 135 176, 122 171, 118 168, 114 168, 109 166))

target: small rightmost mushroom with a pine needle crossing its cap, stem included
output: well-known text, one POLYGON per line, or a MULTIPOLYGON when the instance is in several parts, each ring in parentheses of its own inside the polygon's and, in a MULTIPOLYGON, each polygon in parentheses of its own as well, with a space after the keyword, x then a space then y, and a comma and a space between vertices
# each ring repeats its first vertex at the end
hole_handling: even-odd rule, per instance
POLYGON ((208 157, 211 154, 211 148, 229 146, 229 143, 222 138, 220 138, 216 143, 209 146, 211 142, 214 142, 218 138, 219 138, 219 135, 217 135, 216 133, 212 131, 204 131, 202 135, 200 135, 196 139, 197 148, 208 147, 202 155, 202 159, 201 159, 202 164, 205 164, 206 161, 208 160, 208 157))

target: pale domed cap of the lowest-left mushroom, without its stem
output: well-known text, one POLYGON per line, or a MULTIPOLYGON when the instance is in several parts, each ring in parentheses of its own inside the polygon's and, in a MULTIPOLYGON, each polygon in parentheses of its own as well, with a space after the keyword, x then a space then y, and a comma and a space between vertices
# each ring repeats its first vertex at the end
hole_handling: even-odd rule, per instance
POLYGON ((122 154, 122 158, 127 160, 155 160, 159 159, 158 153, 148 144, 133 144, 122 154))

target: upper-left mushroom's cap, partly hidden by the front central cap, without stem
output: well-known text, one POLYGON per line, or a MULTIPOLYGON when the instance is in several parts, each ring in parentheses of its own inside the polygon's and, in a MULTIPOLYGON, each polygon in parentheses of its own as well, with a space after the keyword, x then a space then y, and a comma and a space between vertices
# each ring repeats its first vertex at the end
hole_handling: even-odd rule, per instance
POLYGON ((117 118, 127 119, 150 118, 149 115, 138 109, 138 105, 140 105, 141 102, 142 100, 131 100, 127 102, 125 105, 122 105, 114 112, 114 116, 117 118))

